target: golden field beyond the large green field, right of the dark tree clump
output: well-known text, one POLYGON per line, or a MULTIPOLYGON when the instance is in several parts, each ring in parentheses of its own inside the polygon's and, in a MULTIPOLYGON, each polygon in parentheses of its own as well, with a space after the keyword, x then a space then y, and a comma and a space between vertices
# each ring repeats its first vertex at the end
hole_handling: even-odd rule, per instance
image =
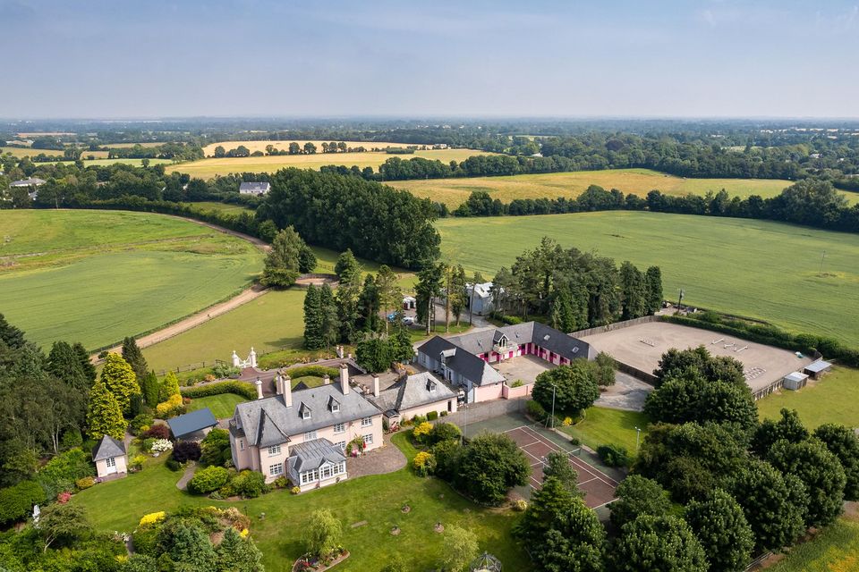
POLYGON ((413 195, 443 202, 455 208, 472 194, 482 190, 492 198, 509 203, 514 198, 574 198, 591 185, 603 189, 618 189, 625 194, 645 197, 653 189, 666 195, 703 195, 708 190, 727 190, 732 197, 761 195, 775 197, 791 181, 764 179, 685 179, 649 169, 608 169, 605 171, 548 172, 508 177, 473 177, 427 179, 421 181, 389 181, 388 185, 405 189, 413 195))

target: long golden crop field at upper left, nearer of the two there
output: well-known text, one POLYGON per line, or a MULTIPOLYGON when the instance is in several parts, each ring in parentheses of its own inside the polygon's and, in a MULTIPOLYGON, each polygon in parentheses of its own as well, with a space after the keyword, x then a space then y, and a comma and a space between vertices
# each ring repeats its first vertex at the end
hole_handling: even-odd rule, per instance
POLYGON ((190 163, 174 164, 167 167, 167 172, 187 172, 192 177, 210 179, 216 175, 226 175, 231 172, 276 172, 285 167, 297 167, 299 169, 319 169, 319 167, 336 164, 344 164, 348 167, 358 165, 361 168, 372 167, 378 169, 378 165, 385 163, 391 157, 411 159, 412 157, 423 157, 425 159, 438 159, 442 163, 450 161, 464 161, 470 156, 491 155, 485 151, 474 151, 472 149, 438 149, 431 151, 415 151, 412 155, 388 155, 384 152, 365 153, 316 153, 314 155, 284 155, 284 156, 261 156, 261 157, 224 157, 220 159, 202 159, 190 163))

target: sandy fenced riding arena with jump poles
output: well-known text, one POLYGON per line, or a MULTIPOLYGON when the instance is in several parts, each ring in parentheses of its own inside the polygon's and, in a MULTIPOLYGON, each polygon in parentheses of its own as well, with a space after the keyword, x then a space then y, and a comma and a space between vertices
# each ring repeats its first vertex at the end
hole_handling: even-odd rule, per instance
POLYGON ((734 357, 743 363, 745 381, 755 398, 769 395, 780 387, 787 374, 802 371, 812 363, 811 357, 796 357, 787 349, 667 322, 635 324, 583 336, 582 340, 645 374, 651 374, 659 366, 659 358, 668 349, 704 346, 714 356, 734 357))

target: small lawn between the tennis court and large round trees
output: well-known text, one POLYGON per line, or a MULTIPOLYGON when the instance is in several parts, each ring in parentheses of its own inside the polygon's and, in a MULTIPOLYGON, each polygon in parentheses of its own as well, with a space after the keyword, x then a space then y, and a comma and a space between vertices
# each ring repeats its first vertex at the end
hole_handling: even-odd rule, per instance
POLYGON ((609 408, 589 408, 584 420, 570 427, 558 425, 564 433, 578 438, 584 445, 596 450, 600 445, 623 445, 635 454, 635 427, 642 430, 641 440, 647 434, 650 419, 638 411, 609 408))

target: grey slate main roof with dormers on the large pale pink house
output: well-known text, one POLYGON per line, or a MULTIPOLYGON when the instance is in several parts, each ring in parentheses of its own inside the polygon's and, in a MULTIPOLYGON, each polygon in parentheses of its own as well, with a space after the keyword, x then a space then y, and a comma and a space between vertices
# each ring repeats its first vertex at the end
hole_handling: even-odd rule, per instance
POLYGON ((344 395, 339 383, 293 391, 292 395, 293 406, 290 408, 286 407, 283 395, 239 403, 235 406, 230 430, 235 435, 243 433, 253 446, 268 447, 287 442, 292 435, 380 413, 358 391, 344 395), (339 411, 332 411, 329 407, 332 398, 339 402, 339 411), (302 418, 300 411, 303 408, 310 410, 310 418, 302 418))

